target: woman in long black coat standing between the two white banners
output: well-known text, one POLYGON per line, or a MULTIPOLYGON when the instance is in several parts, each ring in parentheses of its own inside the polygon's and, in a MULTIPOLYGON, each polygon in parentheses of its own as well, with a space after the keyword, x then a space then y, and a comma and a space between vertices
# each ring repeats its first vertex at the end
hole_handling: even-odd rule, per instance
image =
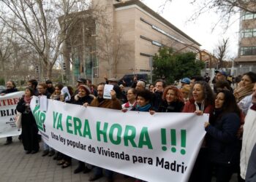
POLYGON ((37 122, 31 112, 30 101, 34 95, 31 87, 26 87, 25 95, 20 99, 16 107, 21 115, 22 143, 26 154, 35 154, 39 151, 39 142, 37 140, 37 122))

